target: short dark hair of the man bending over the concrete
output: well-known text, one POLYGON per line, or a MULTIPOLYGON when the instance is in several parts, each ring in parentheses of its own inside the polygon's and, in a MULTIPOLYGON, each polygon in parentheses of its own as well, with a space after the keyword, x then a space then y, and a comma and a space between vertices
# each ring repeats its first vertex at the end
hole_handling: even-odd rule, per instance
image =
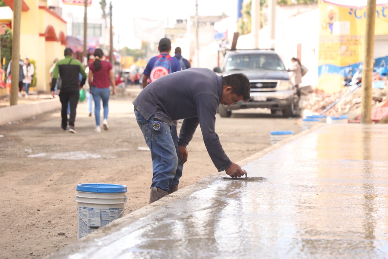
POLYGON ((232 86, 232 94, 237 94, 237 96, 242 95, 243 101, 248 101, 251 98, 251 84, 249 83, 248 77, 243 73, 222 77, 222 85, 232 86))

